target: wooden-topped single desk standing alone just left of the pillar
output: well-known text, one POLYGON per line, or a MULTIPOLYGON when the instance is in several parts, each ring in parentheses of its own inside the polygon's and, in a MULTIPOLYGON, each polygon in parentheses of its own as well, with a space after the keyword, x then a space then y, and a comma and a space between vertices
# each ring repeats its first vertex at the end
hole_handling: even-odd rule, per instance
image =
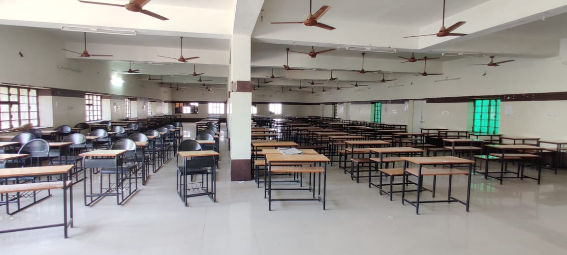
MULTIPOLYGON (((217 157, 219 155, 218 152, 215 152, 213 150, 197 150, 197 151, 193 151, 193 152, 178 152, 177 153, 180 157, 183 158, 183 169, 179 169, 179 167, 177 167, 177 195, 179 196, 179 198, 181 198, 181 201, 183 201, 184 205, 187 206, 187 198, 189 197, 196 197, 196 196, 208 196, 213 202, 217 201, 217 184, 216 184, 216 178, 215 178, 215 171, 216 171, 216 163, 211 164, 208 167, 211 167, 211 171, 209 172, 208 170, 205 171, 201 171, 201 170, 197 170, 197 171, 191 171, 188 172, 187 171, 187 163, 188 161, 190 161, 189 159, 193 158, 193 157, 213 157, 213 161, 214 161, 214 157, 217 157), (201 181, 201 191, 200 193, 192 193, 192 194, 188 194, 188 189, 199 189, 199 188, 188 188, 188 183, 187 183, 187 176, 190 175, 191 178, 194 175, 204 175, 206 176, 206 180, 202 180, 201 181), (210 178, 210 186, 209 186, 209 174, 211 175, 210 178), (181 177, 181 178, 180 178, 181 177), (209 189, 210 188, 210 189, 209 189)), ((191 183, 193 184, 193 183, 191 183)))

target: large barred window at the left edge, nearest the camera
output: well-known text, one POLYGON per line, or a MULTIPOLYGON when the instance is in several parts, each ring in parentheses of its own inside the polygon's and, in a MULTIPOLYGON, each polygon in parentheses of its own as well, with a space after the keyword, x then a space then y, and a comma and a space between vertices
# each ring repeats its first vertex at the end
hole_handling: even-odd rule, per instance
POLYGON ((1 129, 20 127, 31 123, 39 126, 37 89, 0 87, 1 129))

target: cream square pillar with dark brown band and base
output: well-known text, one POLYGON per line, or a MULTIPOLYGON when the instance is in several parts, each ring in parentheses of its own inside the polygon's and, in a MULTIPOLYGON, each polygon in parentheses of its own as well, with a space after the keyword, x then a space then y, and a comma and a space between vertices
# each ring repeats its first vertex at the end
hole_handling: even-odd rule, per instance
POLYGON ((233 34, 230 42, 229 98, 227 125, 230 141, 230 180, 251 180, 250 36, 233 34))

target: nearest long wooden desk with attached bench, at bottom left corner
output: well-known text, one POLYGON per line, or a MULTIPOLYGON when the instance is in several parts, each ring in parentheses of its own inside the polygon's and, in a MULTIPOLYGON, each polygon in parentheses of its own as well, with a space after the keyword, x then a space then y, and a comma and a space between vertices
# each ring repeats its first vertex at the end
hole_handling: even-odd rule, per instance
MULTIPOLYGON (((23 210, 28 208, 31 205, 36 204, 37 202, 45 200, 51 196, 51 193, 48 192, 48 196, 41 198, 40 200, 34 201, 32 204, 26 205, 24 207, 20 207, 19 198, 18 198, 18 210, 15 212, 10 213, 10 196, 9 193, 20 193, 20 192, 35 192, 40 191, 43 189, 63 189, 63 223, 58 224, 49 224, 43 226, 35 226, 35 227, 24 227, 24 228, 15 228, 10 230, 0 230, 0 234, 3 233, 10 233, 16 231, 24 231, 24 230, 37 230, 40 228, 48 228, 48 227, 63 227, 64 237, 67 238, 67 231, 69 227, 74 227, 73 224, 73 185, 71 185, 71 181, 69 181, 69 171, 71 171, 73 165, 62 165, 62 166, 40 166, 40 167, 22 167, 22 168, 4 168, 0 169, 0 180, 1 179, 8 179, 8 178, 23 178, 23 177, 36 177, 36 176, 44 176, 44 175, 61 175, 61 181, 48 181, 48 182, 41 182, 41 183, 22 183, 22 184, 7 184, 7 185, 0 185, 0 194, 5 196, 6 201, 6 212, 9 214, 13 214, 17 211, 23 210), (69 191, 69 199, 67 199, 67 191, 69 191), (67 200, 69 201, 69 207, 67 207, 67 200), (69 208, 69 212, 67 212, 67 208, 69 208)), ((19 196, 19 195, 16 195, 19 196)))

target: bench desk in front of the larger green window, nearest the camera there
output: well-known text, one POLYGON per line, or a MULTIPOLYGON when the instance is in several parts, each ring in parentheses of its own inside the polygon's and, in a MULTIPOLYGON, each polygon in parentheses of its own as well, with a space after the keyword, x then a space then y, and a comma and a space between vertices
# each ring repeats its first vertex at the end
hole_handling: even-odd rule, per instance
POLYGON ((500 184, 502 184, 502 180, 504 178, 519 178, 519 179, 523 179, 523 178, 528 178, 528 179, 534 179, 538 181, 538 184, 541 181, 541 166, 539 164, 539 154, 541 153, 542 150, 544 150, 545 148, 542 147, 538 147, 538 146, 534 146, 534 145, 512 145, 512 144, 486 144, 484 146, 487 146, 489 148, 493 148, 493 149, 497 149, 500 150, 501 153, 491 153, 490 155, 497 155, 498 157, 501 158, 501 165, 500 165, 500 178, 496 177, 496 176, 490 176, 488 175, 488 173, 486 173, 487 176, 490 176, 494 179, 500 180, 500 184), (510 151, 515 151, 515 150, 535 150, 536 154, 526 154, 526 153, 506 153, 506 152, 510 152, 510 151), (523 167, 522 167, 522 172, 518 173, 517 176, 504 176, 504 160, 505 157, 519 157, 519 158, 536 158, 536 171, 538 171, 538 177, 534 178, 531 176, 526 176, 523 174, 523 167))

